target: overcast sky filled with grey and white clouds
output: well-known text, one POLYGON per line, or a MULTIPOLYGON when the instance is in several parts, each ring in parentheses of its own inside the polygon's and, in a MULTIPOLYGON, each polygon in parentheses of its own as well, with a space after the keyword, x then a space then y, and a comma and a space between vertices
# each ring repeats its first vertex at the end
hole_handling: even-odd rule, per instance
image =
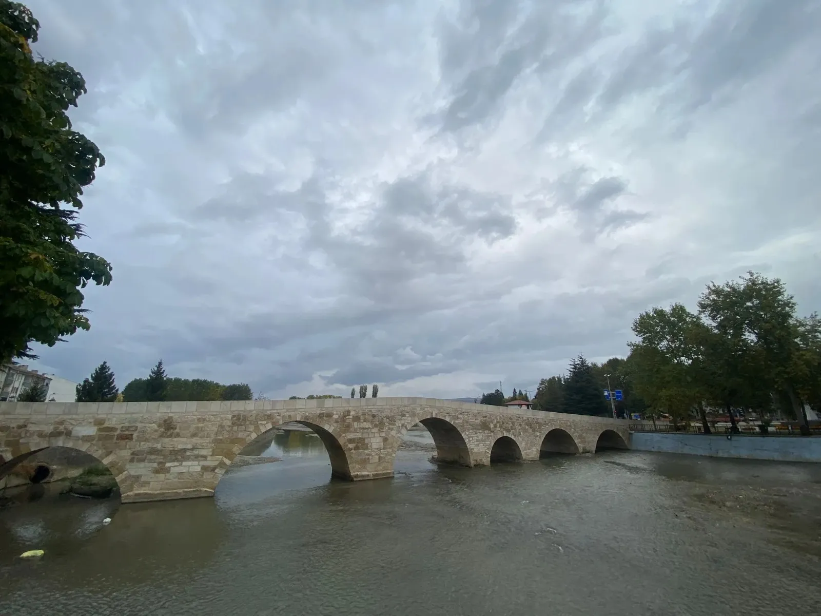
POLYGON ((107 164, 40 368, 534 389, 754 269, 821 308, 812 0, 29 0, 107 164))

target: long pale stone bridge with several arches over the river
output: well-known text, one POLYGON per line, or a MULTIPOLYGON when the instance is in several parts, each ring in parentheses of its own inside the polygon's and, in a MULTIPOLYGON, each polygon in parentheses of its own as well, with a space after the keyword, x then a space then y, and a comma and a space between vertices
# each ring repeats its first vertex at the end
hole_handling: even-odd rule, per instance
POLYGON ((393 476, 402 435, 424 425, 437 461, 466 467, 546 452, 628 448, 627 422, 433 398, 241 402, 0 402, 0 479, 47 447, 98 457, 123 503, 213 496, 234 457, 296 421, 322 439, 333 476, 393 476))

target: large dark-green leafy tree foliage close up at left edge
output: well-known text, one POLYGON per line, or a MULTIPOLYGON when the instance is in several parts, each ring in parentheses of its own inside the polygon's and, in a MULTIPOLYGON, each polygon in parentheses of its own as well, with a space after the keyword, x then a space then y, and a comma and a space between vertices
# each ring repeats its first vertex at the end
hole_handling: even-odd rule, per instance
POLYGON ((80 289, 111 282, 106 260, 74 246, 83 186, 105 163, 66 113, 85 80, 34 58, 38 31, 28 8, 0 0, 0 362, 89 329, 80 289))

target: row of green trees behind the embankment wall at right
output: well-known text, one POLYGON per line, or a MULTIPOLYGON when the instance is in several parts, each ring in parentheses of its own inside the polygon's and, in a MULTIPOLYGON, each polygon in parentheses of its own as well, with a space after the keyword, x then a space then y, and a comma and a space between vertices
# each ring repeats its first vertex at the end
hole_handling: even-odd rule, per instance
MULTIPOLYGON (((534 408, 607 416, 608 388, 621 389, 620 416, 662 414, 673 422, 695 418, 711 432, 718 409, 738 432, 736 412, 775 414, 800 421, 809 434, 805 404, 821 411, 821 321, 796 314, 796 301, 778 278, 748 272, 737 281, 710 283, 695 312, 677 303, 642 312, 626 359, 596 364, 578 356, 566 375, 539 382, 534 408)), ((484 394, 498 404, 502 392, 484 394)), ((522 399, 521 393, 515 399, 522 399)))

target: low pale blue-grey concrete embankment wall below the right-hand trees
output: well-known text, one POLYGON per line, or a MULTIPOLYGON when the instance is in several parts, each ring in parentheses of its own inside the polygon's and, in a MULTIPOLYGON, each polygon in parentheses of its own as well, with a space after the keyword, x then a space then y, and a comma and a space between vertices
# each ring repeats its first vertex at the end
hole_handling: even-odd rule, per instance
POLYGON ((695 456, 743 457, 781 462, 821 462, 821 437, 744 436, 733 434, 676 434, 633 432, 631 448, 637 451, 690 453, 695 456))

